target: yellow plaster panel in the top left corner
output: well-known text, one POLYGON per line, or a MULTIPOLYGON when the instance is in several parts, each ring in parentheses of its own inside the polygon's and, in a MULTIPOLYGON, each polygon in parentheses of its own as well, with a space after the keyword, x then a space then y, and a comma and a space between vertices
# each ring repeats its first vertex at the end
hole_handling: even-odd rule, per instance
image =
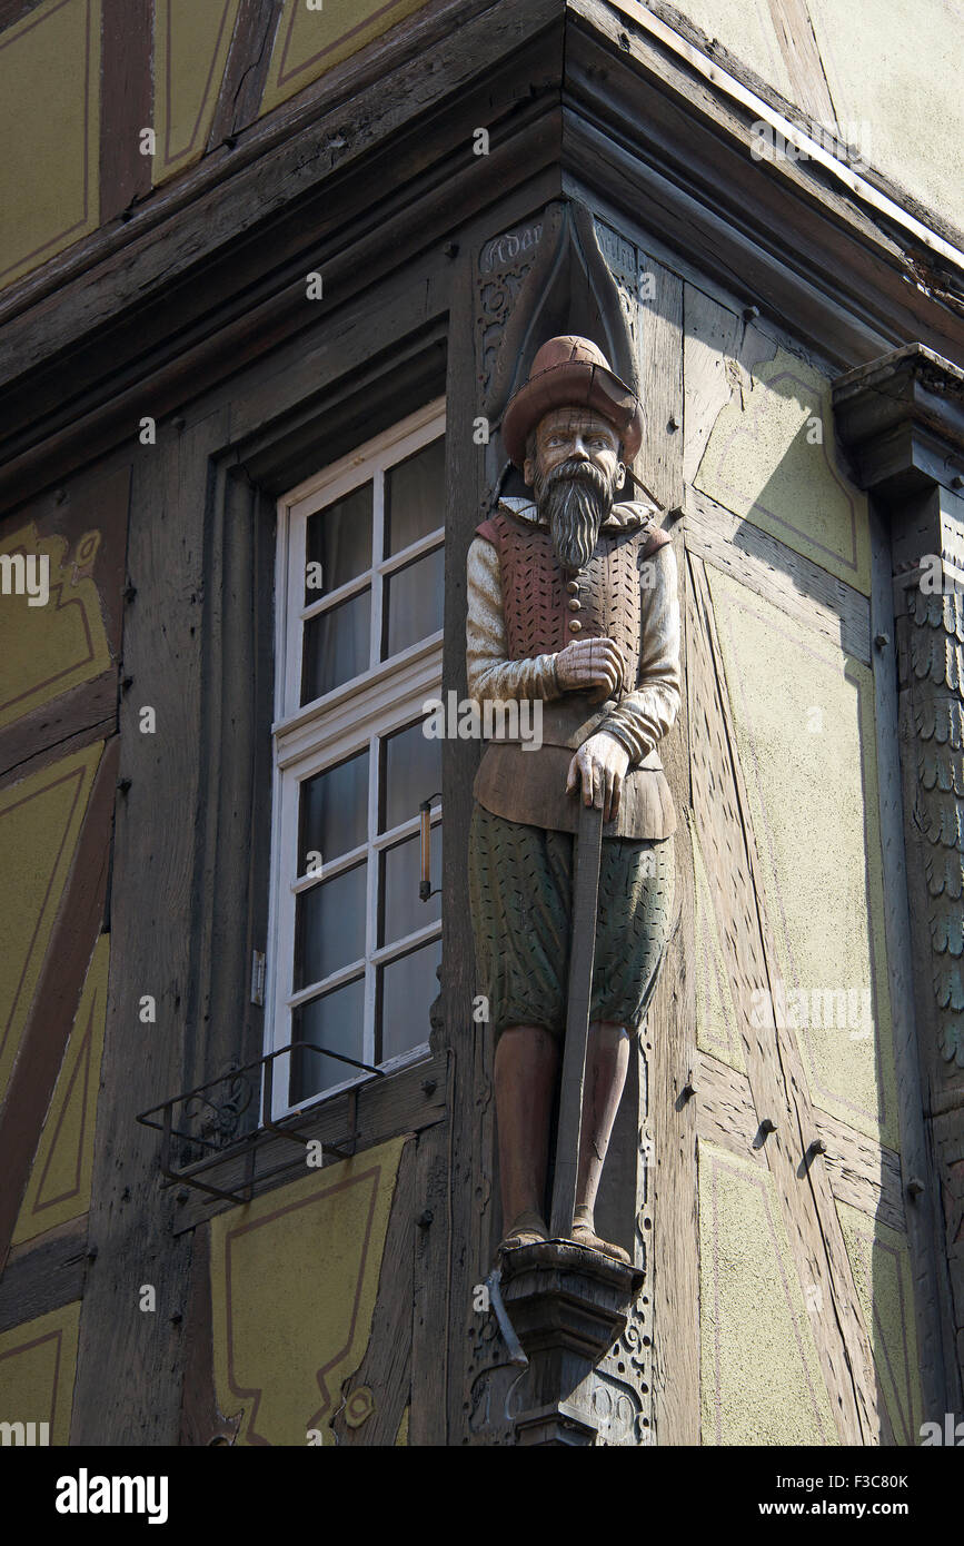
POLYGON ((0 286, 96 230, 100 0, 46 0, 0 32, 0 286))

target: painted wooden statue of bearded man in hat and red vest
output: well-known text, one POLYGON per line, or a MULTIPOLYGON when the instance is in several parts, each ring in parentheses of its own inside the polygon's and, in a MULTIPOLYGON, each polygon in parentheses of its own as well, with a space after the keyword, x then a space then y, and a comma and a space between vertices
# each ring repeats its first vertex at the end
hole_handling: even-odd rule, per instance
POLYGON ((657 744, 680 703, 674 550, 653 506, 613 502, 641 422, 596 345, 542 345, 502 424, 535 499, 501 499, 468 553, 470 696, 528 699, 542 716, 538 750, 508 733, 488 744, 470 835, 479 989, 496 1037, 502 1251, 548 1238, 582 799, 604 827, 572 1238, 629 1260, 598 1237, 595 1201, 670 925, 675 813, 657 744))

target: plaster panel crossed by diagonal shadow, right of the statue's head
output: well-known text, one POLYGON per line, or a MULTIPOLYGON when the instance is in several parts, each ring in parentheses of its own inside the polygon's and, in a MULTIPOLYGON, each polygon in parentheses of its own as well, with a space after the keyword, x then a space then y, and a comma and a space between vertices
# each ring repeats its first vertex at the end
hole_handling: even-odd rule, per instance
POLYGON ((720 411, 695 485, 870 595, 867 499, 837 462, 830 379, 786 349, 720 411))

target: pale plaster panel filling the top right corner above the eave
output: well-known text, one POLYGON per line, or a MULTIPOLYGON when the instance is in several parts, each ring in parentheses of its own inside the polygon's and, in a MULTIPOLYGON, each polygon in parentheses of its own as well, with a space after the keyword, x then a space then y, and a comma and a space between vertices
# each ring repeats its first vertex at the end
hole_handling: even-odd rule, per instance
POLYGON ((845 138, 964 230, 959 0, 808 0, 845 138))

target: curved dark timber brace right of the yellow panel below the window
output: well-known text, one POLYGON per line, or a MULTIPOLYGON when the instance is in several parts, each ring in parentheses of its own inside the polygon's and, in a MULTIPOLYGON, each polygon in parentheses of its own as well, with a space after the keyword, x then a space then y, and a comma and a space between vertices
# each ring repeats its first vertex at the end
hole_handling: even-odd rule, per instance
MULTIPOLYGON (((341 1399, 329 1422, 335 1441, 343 1446, 394 1444, 411 1399, 412 1246, 420 1232, 416 1223, 416 1149, 420 1141, 412 1139, 402 1150, 369 1343, 358 1368, 341 1385, 341 1399), (371 1416, 358 1424, 352 1421, 351 1398, 362 1387, 371 1390, 372 1407, 371 1416)), ((431 1399, 428 1390, 419 1394, 422 1401, 431 1399)))

